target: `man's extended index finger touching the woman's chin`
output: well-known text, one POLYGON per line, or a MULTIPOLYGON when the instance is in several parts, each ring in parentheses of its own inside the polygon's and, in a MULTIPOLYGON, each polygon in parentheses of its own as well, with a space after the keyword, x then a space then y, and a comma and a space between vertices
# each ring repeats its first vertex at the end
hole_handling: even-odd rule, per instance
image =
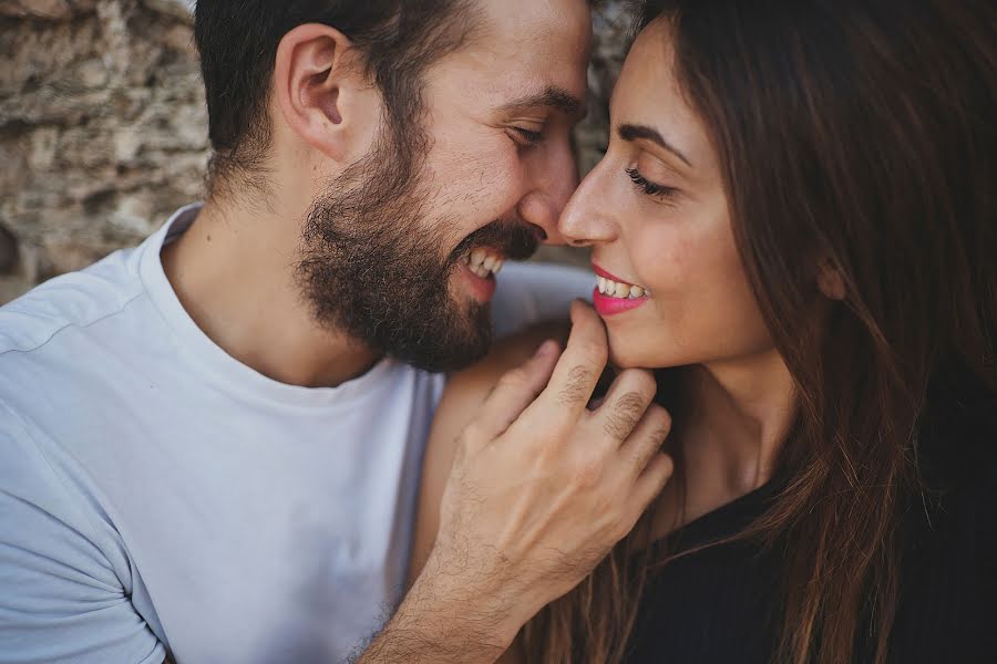
POLYGON ((572 334, 547 387, 527 411, 539 422, 572 425, 585 411, 609 356, 606 328, 593 309, 572 303, 572 334))

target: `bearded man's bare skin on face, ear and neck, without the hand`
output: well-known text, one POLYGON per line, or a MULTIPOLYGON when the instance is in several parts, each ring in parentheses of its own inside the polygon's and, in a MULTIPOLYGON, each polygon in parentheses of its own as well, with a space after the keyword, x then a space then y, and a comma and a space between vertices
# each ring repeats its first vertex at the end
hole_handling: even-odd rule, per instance
MULTIPOLYGON (((426 181, 434 210, 425 228, 449 229, 446 250, 495 219, 537 227, 561 242, 557 218, 577 184, 569 131, 585 95, 590 18, 578 0, 482 0, 472 43, 426 73, 426 181), (543 101, 548 89, 575 107, 543 101), (539 132, 530 145, 518 129, 539 132)), ((317 325, 294 269, 301 222, 323 187, 367 154, 382 102, 345 35, 300 25, 278 48, 269 116, 270 195, 220 188, 189 231, 163 252, 181 302, 219 346, 277 381, 335 386, 377 360, 362 339, 317 325)), ((418 231, 418 230, 417 230, 418 231)), ((475 297, 455 271, 454 299, 475 297)))

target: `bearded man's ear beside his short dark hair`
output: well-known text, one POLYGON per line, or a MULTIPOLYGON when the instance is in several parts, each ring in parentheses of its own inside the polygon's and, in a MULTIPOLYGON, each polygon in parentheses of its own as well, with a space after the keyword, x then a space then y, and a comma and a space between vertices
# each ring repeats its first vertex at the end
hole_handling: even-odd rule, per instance
POLYGON ((321 23, 298 25, 277 45, 274 93, 288 127, 302 141, 342 160, 364 129, 360 98, 370 92, 356 51, 341 32, 321 23))

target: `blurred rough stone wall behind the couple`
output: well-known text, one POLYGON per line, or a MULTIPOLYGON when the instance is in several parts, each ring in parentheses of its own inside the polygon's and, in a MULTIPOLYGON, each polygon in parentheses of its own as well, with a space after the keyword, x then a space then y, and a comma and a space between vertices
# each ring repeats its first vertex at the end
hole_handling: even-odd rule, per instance
MULTIPOLYGON (((193 0, 0 0, 0 304, 138 243, 204 195, 193 0)), ((605 149, 626 0, 595 15, 582 173, 605 149)), ((542 260, 586 264, 544 248, 542 260)))

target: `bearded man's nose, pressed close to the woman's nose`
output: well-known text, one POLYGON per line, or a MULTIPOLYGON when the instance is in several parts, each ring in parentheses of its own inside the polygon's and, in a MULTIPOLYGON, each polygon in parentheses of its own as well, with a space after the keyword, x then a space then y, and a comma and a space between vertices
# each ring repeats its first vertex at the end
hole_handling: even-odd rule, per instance
POLYGON ((557 230, 557 219, 567 205, 575 187, 578 186, 578 168, 571 146, 552 147, 547 158, 534 164, 531 181, 534 187, 518 205, 520 218, 539 227, 544 231, 547 245, 564 245, 565 240, 557 230))

